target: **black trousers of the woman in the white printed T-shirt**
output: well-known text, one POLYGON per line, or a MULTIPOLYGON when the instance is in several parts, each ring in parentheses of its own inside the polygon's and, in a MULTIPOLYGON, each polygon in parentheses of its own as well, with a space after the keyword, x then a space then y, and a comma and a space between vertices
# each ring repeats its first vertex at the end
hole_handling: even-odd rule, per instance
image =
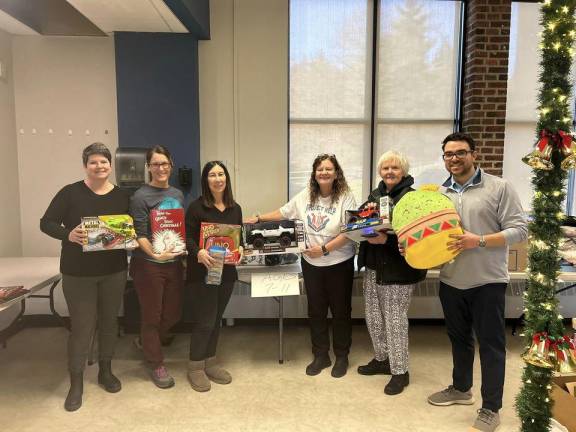
POLYGON ((354 257, 320 267, 302 260, 302 274, 308 298, 310 337, 314 355, 330 350, 328 308, 332 313, 332 345, 337 357, 346 356, 352 345, 352 282, 354 257))

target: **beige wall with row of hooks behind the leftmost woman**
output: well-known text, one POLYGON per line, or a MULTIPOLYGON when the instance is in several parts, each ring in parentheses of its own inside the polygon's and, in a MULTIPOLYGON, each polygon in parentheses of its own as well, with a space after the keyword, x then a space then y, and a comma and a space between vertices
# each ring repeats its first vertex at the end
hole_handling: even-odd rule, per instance
POLYGON ((84 147, 118 146, 114 40, 14 36, 13 51, 22 252, 57 256, 60 242, 40 232, 40 217, 84 177, 84 147))

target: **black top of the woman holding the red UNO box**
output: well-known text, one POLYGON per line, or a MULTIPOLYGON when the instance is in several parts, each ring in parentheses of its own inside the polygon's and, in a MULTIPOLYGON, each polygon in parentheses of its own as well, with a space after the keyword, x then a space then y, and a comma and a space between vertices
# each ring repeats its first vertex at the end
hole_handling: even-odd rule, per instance
MULTIPOLYGON (((186 210, 186 249, 188 249, 187 279, 190 282, 204 281, 206 267, 198 262, 198 246, 200 242, 200 224, 202 222, 242 225, 242 209, 236 203, 220 211, 215 207, 206 207, 202 197, 192 201, 186 210)), ((225 265, 222 272, 223 282, 233 282, 238 279, 236 267, 225 265)))

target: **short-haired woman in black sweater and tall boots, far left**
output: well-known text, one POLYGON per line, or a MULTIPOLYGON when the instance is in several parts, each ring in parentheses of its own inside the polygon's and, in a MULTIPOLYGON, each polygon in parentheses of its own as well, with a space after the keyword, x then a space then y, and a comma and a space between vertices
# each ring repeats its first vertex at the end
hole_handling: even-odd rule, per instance
POLYGON ((101 143, 82 152, 86 177, 62 188, 40 219, 40 229, 62 241, 60 272, 70 314, 67 411, 82 406, 83 376, 90 341, 98 322, 98 384, 116 393, 122 385, 112 374, 111 361, 118 334, 118 310, 126 285, 126 251, 82 252, 87 241, 81 219, 127 214, 129 196, 109 181, 112 156, 101 143))

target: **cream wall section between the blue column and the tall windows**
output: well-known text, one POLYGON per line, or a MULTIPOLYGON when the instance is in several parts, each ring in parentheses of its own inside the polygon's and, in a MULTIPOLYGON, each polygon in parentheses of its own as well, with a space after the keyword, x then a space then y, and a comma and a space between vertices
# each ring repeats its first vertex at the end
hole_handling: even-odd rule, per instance
POLYGON ((233 172, 245 215, 288 196, 288 0, 213 0, 199 44, 200 156, 233 172))

